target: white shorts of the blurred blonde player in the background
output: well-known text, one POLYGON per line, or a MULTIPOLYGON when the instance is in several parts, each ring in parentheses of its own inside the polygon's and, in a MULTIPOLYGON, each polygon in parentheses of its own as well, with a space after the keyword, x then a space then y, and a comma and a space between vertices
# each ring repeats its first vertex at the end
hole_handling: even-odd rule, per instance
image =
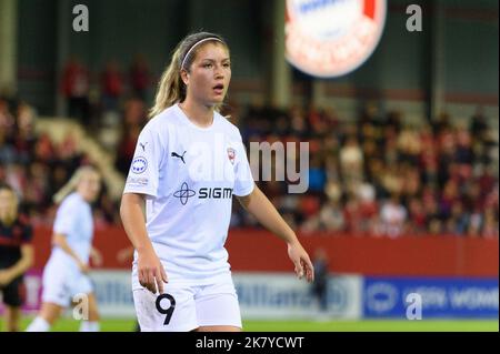
POLYGON ((76 295, 90 294, 92 283, 86 274, 73 266, 50 260, 43 270, 42 302, 68 307, 76 295))

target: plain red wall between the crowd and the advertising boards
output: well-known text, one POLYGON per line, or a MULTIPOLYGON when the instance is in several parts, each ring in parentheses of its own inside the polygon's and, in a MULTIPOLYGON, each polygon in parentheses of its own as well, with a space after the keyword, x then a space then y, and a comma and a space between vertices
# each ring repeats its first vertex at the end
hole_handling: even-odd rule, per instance
MULTIPOLYGON (((300 235, 312 257, 324 249, 330 271, 391 276, 498 276, 498 240, 462 236, 370 237, 314 233, 300 235)), ((36 269, 42 269, 50 253, 50 230, 37 229, 36 269)), ((104 257, 103 267, 129 269, 117 253, 130 242, 121 227, 98 230, 94 245, 104 257)), ((262 230, 231 230, 227 249, 234 271, 292 272, 284 243, 262 230)))

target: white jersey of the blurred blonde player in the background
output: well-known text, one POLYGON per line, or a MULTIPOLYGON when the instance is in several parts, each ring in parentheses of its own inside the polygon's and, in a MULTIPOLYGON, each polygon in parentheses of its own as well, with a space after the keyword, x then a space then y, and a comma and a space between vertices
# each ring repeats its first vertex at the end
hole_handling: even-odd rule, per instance
MULTIPOLYGON (((53 232, 66 236, 68 245, 82 262, 89 261, 93 237, 92 210, 79 193, 71 193, 59 205, 53 232)), ((52 249, 50 261, 58 262, 61 266, 78 266, 74 260, 58 246, 52 249)))

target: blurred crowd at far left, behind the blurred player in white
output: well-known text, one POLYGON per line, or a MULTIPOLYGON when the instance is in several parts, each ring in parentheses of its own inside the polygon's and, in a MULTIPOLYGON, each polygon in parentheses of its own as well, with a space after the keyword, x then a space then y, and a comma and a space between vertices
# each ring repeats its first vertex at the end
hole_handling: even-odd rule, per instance
MULTIPOLYGON (((0 181, 20 195, 21 212, 33 225, 51 226, 56 206, 52 196, 74 170, 90 163, 72 135, 54 142, 36 132, 36 110, 22 101, 0 97, 0 181)), ((94 214, 100 224, 119 222, 116 202, 103 185, 94 214)))

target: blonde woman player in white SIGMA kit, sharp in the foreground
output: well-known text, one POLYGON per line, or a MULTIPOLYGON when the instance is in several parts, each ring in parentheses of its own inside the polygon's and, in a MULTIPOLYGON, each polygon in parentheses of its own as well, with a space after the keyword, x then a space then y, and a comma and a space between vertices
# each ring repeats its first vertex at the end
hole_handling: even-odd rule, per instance
POLYGON ((120 212, 137 250, 132 290, 142 331, 241 331, 224 249, 233 194, 286 241, 298 276, 313 279, 294 232, 254 185, 238 128, 218 112, 230 79, 224 40, 188 36, 138 139, 120 212))

